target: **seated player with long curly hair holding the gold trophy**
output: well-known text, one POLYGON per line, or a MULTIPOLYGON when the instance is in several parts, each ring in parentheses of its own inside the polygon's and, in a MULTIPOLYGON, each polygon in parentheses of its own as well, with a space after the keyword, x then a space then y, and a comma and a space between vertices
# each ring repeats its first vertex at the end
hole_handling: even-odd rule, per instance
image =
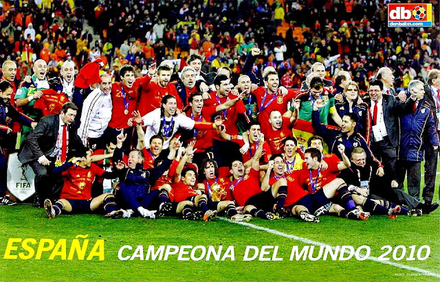
POLYGON ((208 196, 208 208, 218 213, 224 211, 225 215, 230 216, 233 221, 252 220, 252 215, 243 215, 236 211, 235 202, 229 190, 230 180, 219 176, 217 162, 212 158, 205 158, 201 167, 206 178, 203 180, 203 185, 205 185, 205 194, 208 196))

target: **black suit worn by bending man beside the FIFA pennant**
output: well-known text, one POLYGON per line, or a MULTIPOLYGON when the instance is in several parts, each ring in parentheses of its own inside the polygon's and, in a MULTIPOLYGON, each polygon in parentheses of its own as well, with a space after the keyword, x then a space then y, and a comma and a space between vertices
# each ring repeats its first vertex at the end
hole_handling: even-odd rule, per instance
MULTIPOLYGON (((40 119, 39 124, 23 141, 19 151, 19 160, 23 165, 30 165, 35 172, 36 199, 41 200, 52 196, 54 178, 51 178, 54 169, 55 158, 50 156, 54 152, 58 130, 60 126, 60 115, 50 115, 40 119), (39 163, 41 156, 46 156, 51 161, 49 166, 39 163)), ((76 134, 76 128, 69 126, 69 156, 76 153, 84 153, 87 148, 83 145, 80 137, 76 134)), ((79 155, 79 154, 77 154, 79 155)))

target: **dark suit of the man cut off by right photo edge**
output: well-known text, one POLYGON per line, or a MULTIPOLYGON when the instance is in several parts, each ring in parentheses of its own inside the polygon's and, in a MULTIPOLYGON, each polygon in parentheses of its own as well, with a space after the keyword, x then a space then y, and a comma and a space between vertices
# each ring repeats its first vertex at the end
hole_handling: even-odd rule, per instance
MULTIPOLYGON (((437 96, 437 93, 434 93, 433 89, 429 84, 425 85, 425 97, 430 104, 432 115, 434 115, 435 121, 435 129, 437 130, 437 134, 439 134, 439 119, 437 117, 437 111, 440 110, 440 107, 437 107, 436 102, 434 101, 434 95, 437 96)), ((428 134, 425 134, 424 141, 425 144, 430 144, 428 134)), ((435 176, 437 173, 437 160, 439 158, 439 150, 434 150, 434 148, 430 145, 427 145, 425 148, 425 185, 423 186, 423 194, 422 198, 427 203, 432 202, 432 196, 434 196, 435 191, 435 176)), ((439 189, 440 195, 440 189, 439 189)))

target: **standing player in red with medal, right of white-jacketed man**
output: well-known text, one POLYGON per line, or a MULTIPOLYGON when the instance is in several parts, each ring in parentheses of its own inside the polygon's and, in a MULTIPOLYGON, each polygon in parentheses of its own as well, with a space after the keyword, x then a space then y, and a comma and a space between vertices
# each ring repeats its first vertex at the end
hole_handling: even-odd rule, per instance
POLYGON ((111 86, 111 102, 113 104, 113 112, 109 126, 105 132, 106 138, 118 136, 122 131, 127 134, 124 141, 124 149, 128 149, 131 145, 131 137, 133 135, 133 127, 128 122, 131 119, 129 113, 137 109, 137 99, 140 93, 140 86, 145 87, 151 80, 151 75, 155 72, 155 64, 148 67, 148 74, 142 78, 135 78, 135 69, 126 64, 120 69, 120 77, 122 82, 115 82, 111 86))

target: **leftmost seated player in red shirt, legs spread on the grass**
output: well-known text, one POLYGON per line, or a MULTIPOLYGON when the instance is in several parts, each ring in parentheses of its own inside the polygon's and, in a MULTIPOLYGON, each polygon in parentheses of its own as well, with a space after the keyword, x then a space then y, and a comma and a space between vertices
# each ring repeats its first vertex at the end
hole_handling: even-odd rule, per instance
POLYGON ((62 211, 67 213, 92 213, 103 207, 106 217, 116 210, 115 196, 103 193, 96 198, 91 197, 91 184, 95 176, 115 178, 115 174, 105 172, 98 165, 91 163, 91 151, 85 156, 73 158, 72 161, 56 167, 54 174, 62 174, 64 178, 60 199, 52 204, 50 199, 44 201, 48 218, 55 218, 62 211))

